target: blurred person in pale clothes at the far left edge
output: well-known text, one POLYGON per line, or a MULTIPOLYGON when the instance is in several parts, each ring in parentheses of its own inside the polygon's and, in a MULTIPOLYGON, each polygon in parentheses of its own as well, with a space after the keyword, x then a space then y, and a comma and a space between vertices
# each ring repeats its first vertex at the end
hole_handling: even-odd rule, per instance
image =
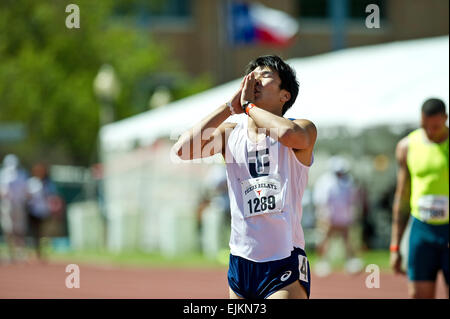
POLYGON ((26 259, 26 181, 27 174, 20 168, 19 158, 14 154, 6 155, 0 170, 0 224, 11 262, 26 259))

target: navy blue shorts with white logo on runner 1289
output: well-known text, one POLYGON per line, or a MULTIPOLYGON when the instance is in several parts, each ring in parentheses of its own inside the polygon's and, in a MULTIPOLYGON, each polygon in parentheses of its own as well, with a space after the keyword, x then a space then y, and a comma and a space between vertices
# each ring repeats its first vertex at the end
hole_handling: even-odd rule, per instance
POLYGON ((309 298, 309 262, 300 248, 294 248, 287 258, 268 262, 254 262, 230 254, 228 285, 242 298, 264 299, 296 280, 300 281, 309 298))

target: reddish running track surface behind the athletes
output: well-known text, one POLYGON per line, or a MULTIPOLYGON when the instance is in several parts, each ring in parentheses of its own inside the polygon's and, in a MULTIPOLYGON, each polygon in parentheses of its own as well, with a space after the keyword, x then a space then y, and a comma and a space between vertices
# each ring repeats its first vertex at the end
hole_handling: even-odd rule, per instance
MULTIPOLYGON (((67 264, 0 265, 0 298, 221 299, 228 298, 227 268, 120 268, 80 264, 80 288, 66 288, 67 264)), ((366 288, 369 273, 312 275, 312 299, 408 298, 407 279, 380 276, 380 288, 366 288)), ((439 276, 437 298, 447 298, 439 276)))

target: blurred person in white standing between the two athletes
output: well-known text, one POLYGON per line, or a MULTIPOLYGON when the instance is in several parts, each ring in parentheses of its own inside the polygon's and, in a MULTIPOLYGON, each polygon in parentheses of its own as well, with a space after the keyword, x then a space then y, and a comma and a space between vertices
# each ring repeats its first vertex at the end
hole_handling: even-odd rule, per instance
POLYGON ((329 168, 330 172, 319 177, 314 187, 318 227, 324 233, 317 248, 319 262, 315 270, 319 276, 326 276, 331 271, 325 255, 329 240, 335 234, 342 236, 345 242, 346 270, 356 273, 362 269, 362 262, 354 258, 349 235, 357 205, 357 189, 349 174, 350 164, 340 156, 333 156, 329 160, 329 168))

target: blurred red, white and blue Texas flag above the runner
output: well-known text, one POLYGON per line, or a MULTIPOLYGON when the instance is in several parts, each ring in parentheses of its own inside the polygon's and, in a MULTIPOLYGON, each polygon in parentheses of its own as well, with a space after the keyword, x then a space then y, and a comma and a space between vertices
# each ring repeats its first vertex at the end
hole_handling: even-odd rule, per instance
POLYGON ((228 34, 232 44, 292 44, 298 22, 287 13, 259 3, 231 2, 228 34))

